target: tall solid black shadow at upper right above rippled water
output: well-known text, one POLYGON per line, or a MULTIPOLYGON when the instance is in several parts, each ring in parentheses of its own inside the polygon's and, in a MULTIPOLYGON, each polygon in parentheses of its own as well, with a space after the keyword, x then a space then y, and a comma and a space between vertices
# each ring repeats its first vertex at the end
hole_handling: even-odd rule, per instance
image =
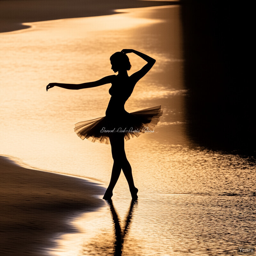
POLYGON ((181 14, 189 137, 206 148, 255 155, 248 6, 184 0, 181 14))

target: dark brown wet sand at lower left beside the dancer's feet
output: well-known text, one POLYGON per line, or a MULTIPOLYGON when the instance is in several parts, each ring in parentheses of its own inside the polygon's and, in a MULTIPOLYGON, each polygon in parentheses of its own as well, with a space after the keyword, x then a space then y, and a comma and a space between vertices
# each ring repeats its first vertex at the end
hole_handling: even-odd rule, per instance
POLYGON ((26 169, 3 156, 0 164, 1 255, 47 255, 56 234, 77 231, 68 221, 104 204, 96 197, 104 188, 92 182, 26 169))

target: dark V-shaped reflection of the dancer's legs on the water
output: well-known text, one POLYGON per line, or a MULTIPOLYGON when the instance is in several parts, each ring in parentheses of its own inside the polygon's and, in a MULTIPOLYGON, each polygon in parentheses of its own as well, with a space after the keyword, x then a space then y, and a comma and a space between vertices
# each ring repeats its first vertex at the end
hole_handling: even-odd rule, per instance
POLYGON ((122 255, 122 250, 123 250, 123 245, 124 245, 124 238, 125 236, 128 234, 129 231, 129 225, 131 223, 132 220, 132 213, 133 213, 133 208, 134 205, 138 204, 138 200, 132 200, 131 201, 131 205, 130 205, 130 209, 129 212, 126 216, 126 222, 125 222, 125 227, 124 230, 122 232, 121 226, 120 226, 120 221, 118 218, 118 215, 116 213, 115 207, 113 205, 112 200, 106 200, 109 207, 110 207, 110 211, 111 211, 111 215, 114 221, 114 225, 115 225, 115 233, 116 233, 116 241, 115 241, 115 254, 114 256, 121 256, 122 255))

